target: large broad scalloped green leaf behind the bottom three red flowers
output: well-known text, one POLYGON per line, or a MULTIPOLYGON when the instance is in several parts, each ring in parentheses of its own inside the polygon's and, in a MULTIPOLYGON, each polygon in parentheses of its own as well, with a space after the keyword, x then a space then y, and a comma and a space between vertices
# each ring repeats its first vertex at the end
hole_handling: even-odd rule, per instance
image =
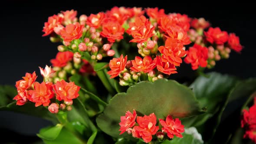
MULTIPOLYGON (((105 133, 118 137, 120 117, 133 109, 137 115, 154 112, 157 118, 162 119, 167 115, 184 118, 203 113, 190 88, 174 80, 158 79, 154 83, 139 82, 128 88, 127 93, 116 94, 109 101, 104 114, 96 118, 98 127, 105 133)), ((126 137, 125 134, 122 136, 126 137)))

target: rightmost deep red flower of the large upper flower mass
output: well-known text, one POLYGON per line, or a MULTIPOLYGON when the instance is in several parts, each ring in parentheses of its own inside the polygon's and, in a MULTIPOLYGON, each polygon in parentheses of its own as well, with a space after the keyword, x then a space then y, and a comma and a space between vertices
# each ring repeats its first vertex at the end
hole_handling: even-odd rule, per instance
POLYGON ((243 49, 243 46, 241 46, 241 44, 240 44, 239 37, 236 36, 235 33, 230 33, 227 43, 230 46, 230 48, 236 52, 241 52, 241 50, 243 49))

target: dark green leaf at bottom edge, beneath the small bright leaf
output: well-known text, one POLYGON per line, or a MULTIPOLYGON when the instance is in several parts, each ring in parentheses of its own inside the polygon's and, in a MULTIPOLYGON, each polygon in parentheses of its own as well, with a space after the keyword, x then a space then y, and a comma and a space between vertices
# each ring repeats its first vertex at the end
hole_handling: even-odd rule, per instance
POLYGON ((50 141, 43 139, 43 141, 45 144, 84 144, 82 140, 79 140, 66 128, 62 128, 62 131, 60 131, 58 137, 56 137, 55 140, 50 141))

